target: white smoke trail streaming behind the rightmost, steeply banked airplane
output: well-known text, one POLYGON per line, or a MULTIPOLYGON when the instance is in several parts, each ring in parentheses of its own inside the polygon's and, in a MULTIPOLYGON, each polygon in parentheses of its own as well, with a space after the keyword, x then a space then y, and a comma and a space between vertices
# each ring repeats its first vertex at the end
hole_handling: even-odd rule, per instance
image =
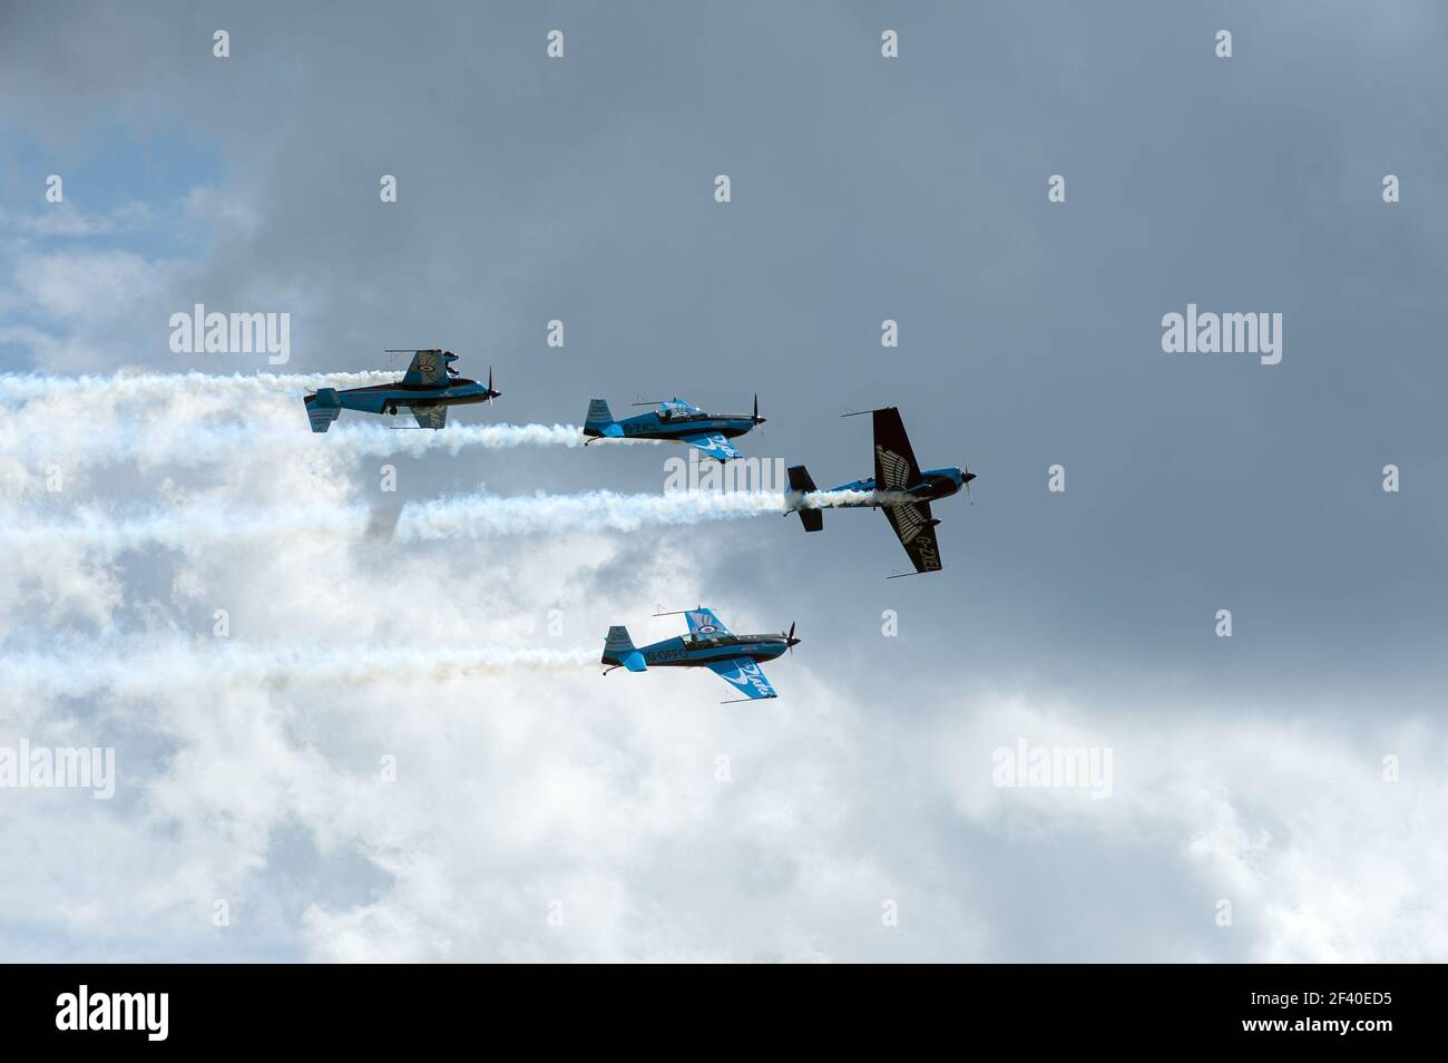
MULTIPOLYGON (((802 505, 867 505, 882 497, 869 491, 815 491, 802 497, 802 505)), ((678 527, 786 513, 788 501, 779 491, 585 491, 573 495, 539 492, 523 497, 475 494, 408 503, 397 514, 392 539, 414 543, 453 537, 637 532, 646 527, 678 527)), ((219 503, 200 503, 142 513, 116 513, 88 505, 71 521, 12 523, 0 529, 0 549, 78 546, 114 556, 148 546, 185 550, 297 534, 359 537, 369 527, 376 534, 378 524, 378 511, 361 505, 248 511, 219 503)))

